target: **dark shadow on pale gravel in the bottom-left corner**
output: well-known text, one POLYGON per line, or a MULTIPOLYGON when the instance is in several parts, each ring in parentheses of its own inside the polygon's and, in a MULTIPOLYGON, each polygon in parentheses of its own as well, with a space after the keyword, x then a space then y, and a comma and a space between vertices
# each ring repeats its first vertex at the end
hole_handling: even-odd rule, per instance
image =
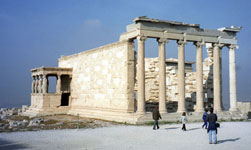
POLYGON ((16 150, 25 148, 31 148, 31 147, 29 147, 27 144, 15 143, 0 138, 0 150, 16 150))

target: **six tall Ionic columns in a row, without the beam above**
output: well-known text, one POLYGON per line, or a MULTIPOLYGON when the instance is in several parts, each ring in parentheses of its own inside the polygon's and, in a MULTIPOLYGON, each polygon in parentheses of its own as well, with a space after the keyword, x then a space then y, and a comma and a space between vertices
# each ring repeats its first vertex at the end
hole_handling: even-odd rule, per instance
MULTIPOLYGON (((145 113, 145 42, 146 37, 138 36, 138 114, 145 113)), ((167 113, 166 109, 166 54, 165 44, 167 39, 157 39, 159 45, 159 111, 167 113)), ((185 112, 185 44, 183 40, 178 40, 178 110, 185 112)), ((202 49, 204 42, 194 42, 196 46, 196 112, 203 112, 203 55, 202 49)), ((213 81, 214 81, 214 110, 222 111, 221 100, 221 62, 220 54, 224 45, 213 44, 213 81)), ((236 98, 236 70, 235 70, 235 49, 236 45, 229 46, 229 74, 230 74, 230 111, 237 111, 236 98)))

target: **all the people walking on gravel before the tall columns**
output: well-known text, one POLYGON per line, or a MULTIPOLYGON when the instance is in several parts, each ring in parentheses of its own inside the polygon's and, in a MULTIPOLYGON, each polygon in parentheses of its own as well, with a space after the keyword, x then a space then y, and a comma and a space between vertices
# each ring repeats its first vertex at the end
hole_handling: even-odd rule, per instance
MULTIPOLYGON (((219 127, 219 124, 216 123, 217 121, 217 115, 215 113, 213 113, 214 109, 213 108, 209 108, 209 109, 205 109, 205 112, 203 113, 202 119, 204 121, 204 124, 202 125, 202 128, 207 129, 207 133, 209 135, 209 144, 217 144, 217 128, 219 127), (210 112, 210 114, 208 114, 207 112, 210 112)), ((158 120, 162 119, 161 115, 159 113, 159 109, 158 107, 156 107, 153 110, 153 120, 154 120, 154 125, 153 125, 153 130, 159 129, 159 123, 158 120)), ((182 130, 186 131, 186 123, 187 123, 187 117, 186 117, 186 112, 182 113, 181 116, 181 123, 182 123, 182 130)))

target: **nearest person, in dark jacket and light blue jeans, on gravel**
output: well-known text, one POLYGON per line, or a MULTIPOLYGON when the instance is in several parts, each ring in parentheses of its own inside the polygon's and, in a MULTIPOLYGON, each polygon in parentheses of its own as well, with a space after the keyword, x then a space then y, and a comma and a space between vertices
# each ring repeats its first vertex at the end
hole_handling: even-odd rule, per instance
POLYGON ((214 109, 209 109, 210 114, 207 116, 207 121, 209 122, 207 133, 209 134, 209 144, 217 144, 217 127, 216 127, 216 121, 217 121, 217 115, 213 113, 214 109), (213 138, 213 140, 212 140, 213 138))

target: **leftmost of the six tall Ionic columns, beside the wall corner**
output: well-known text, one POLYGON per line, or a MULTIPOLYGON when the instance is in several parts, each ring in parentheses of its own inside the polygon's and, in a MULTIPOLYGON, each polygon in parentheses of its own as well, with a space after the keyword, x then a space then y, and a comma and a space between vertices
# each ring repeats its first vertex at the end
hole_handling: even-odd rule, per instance
POLYGON ((145 40, 146 37, 138 36, 138 67, 137 67, 137 113, 145 114, 145 40))

